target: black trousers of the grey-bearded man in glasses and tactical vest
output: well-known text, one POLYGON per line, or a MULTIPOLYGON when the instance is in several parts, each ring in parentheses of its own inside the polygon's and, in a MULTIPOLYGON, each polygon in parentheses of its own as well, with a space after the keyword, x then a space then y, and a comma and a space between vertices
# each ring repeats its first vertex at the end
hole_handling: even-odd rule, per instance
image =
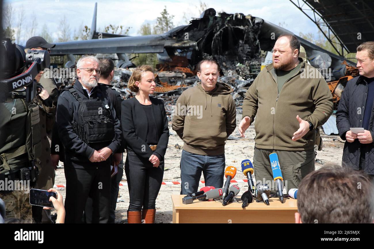
POLYGON ((65 162, 65 223, 82 223, 88 196, 92 197, 92 223, 108 223, 110 161, 92 169, 75 169, 65 162))

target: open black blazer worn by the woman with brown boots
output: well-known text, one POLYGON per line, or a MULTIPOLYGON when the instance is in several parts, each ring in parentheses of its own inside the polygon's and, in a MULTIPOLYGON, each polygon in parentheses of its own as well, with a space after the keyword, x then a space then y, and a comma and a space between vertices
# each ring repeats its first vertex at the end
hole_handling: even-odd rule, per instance
MULTIPOLYGON (((152 102, 153 119, 156 123, 157 148, 156 152, 163 159, 169 142, 168 118, 166 117, 164 103, 161 99, 150 97, 152 102)), ((139 157, 149 159, 155 154, 148 146, 147 132, 148 121, 145 111, 136 98, 127 99, 122 102, 121 124, 123 138, 127 148, 134 151, 139 157)), ((160 160, 161 160, 160 159, 160 160)))

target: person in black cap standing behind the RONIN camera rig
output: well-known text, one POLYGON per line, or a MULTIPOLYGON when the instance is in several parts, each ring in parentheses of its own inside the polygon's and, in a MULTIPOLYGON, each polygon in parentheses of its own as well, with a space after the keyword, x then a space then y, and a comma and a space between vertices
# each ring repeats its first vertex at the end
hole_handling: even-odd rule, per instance
MULTIPOLYGON (((46 50, 50 53, 50 48, 56 46, 55 44, 47 43, 45 39, 40 36, 34 36, 26 42, 27 49, 46 50)), ((37 158, 36 166, 39 169, 39 177, 36 182, 36 188, 49 190, 53 187, 55 179, 55 169, 52 166, 52 159, 50 153, 51 133, 53 124, 55 123, 55 114, 58 98, 58 90, 52 73, 49 68, 41 71, 36 80, 42 85, 42 95, 37 96, 35 103, 39 105, 40 117, 40 138, 43 151, 42 155, 37 158), (40 74, 42 73, 42 74, 40 74)), ((53 223, 50 217, 50 210, 45 210, 40 206, 33 206, 33 218, 37 223, 53 223)))

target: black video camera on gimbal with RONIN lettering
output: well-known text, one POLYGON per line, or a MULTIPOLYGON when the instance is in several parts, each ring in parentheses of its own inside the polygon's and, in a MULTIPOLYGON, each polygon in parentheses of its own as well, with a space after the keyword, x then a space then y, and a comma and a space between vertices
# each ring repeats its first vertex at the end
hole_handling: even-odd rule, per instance
POLYGON ((27 102, 33 101, 42 88, 37 86, 35 77, 44 68, 49 68, 49 53, 45 50, 28 50, 9 38, 1 41, 0 71, 0 102, 11 102, 15 98, 23 98, 27 102), (23 71, 27 70, 23 73, 23 71), (14 92, 26 87, 26 95, 14 92))

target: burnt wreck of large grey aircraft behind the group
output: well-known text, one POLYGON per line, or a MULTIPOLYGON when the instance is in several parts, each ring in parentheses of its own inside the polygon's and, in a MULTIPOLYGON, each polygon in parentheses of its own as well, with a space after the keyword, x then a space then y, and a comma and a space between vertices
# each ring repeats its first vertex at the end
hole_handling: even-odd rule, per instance
MULTIPOLYGON (((252 15, 225 12, 217 15, 214 9, 207 9, 200 18, 191 20, 190 24, 173 28, 161 35, 122 36, 97 32, 96 13, 97 3, 90 40, 56 43, 51 49, 51 55, 68 55, 71 61, 67 65, 72 66, 72 55, 117 54, 119 62, 115 78, 117 82, 114 84, 124 98, 128 98, 132 93, 126 88, 127 80, 135 65, 126 54, 157 53, 158 86, 155 94, 164 98, 166 105, 173 105, 186 87, 198 82, 194 72, 197 62, 203 58, 214 58, 222 68, 219 81, 233 87, 233 98, 240 107, 246 90, 261 70, 266 52, 272 50, 275 38, 281 34, 293 34, 252 15)), ((306 50, 310 64, 329 72, 325 78, 338 80, 350 75, 347 68, 354 67, 355 63, 301 37, 298 39, 306 50)), ((341 94, 344 86, 334 83, 330 88, 332 91, 337 89, 341 94)))

